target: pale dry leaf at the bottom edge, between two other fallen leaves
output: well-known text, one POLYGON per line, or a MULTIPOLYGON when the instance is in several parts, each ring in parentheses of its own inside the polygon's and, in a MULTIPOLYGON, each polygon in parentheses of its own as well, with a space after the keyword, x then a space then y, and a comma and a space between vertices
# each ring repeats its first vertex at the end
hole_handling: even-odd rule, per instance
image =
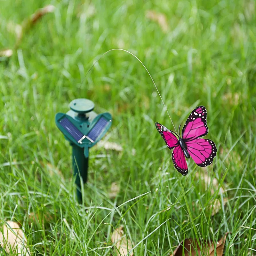
MULTIPOLYGON (((116 228, 111 236, 111 242, 116 246, 116 255, 124 256, 132 250, 132 243, 126 239, 123 227, 116 228)), ((133 256, 133 252, 130 254, 133 256)))

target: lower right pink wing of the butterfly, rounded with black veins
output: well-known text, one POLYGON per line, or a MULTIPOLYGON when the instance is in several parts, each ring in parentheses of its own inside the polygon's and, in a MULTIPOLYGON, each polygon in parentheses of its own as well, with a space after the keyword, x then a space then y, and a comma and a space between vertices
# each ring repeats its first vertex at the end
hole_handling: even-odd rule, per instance
POLYGON ((216 156, 217 148, 215 143, 209 139, 195 139, 186 142, 189 155, 198 166, 204 167, 212 164, 216 156))

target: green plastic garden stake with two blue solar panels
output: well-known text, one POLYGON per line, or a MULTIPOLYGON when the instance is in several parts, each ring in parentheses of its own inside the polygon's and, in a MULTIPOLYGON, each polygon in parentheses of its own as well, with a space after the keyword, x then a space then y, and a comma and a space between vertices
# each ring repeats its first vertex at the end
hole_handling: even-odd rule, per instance
POLYGON ((82 203, 81 183, 87 181, 89 148, 94 146, 108 131, 112 124, 110 113, 97 115, 94 103, 87 99, 76 99, 70 102, 70 110, 57 113, 55 123, 72 146, 72 168, 76 177, 77 199, 82 203))

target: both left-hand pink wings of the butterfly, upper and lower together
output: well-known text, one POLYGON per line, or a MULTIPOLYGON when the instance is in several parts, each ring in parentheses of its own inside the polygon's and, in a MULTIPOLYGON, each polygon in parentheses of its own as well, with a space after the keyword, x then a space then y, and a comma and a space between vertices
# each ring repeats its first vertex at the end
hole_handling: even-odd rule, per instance
POLYGON ((186 158, 176 136, 162 124, 156 123, 156 129, 163 137, 167 147, 169 149, 174 148, 172 152, 172 162, 177 171, 182 175, 187 175, 188 166, 186 158))

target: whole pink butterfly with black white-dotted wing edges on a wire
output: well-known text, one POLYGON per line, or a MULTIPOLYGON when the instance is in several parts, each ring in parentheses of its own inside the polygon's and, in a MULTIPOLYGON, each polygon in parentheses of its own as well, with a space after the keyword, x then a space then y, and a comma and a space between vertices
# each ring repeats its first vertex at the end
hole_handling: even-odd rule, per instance
POLYGON ((156 129, 162 135, 167 147, 169 149, 174 148, 172 162, 182 175, 188 174, 186 158, 191 156, 198 166, 204 167, 212 164, 213 158, 216 156, 217 148, 215 143, 212 140, 199 139, 208 133, 206 117, 206 108, 204 106, 196 107, 188 116, 182 129, 181 137, 164 125, 156 123, 156 129))

